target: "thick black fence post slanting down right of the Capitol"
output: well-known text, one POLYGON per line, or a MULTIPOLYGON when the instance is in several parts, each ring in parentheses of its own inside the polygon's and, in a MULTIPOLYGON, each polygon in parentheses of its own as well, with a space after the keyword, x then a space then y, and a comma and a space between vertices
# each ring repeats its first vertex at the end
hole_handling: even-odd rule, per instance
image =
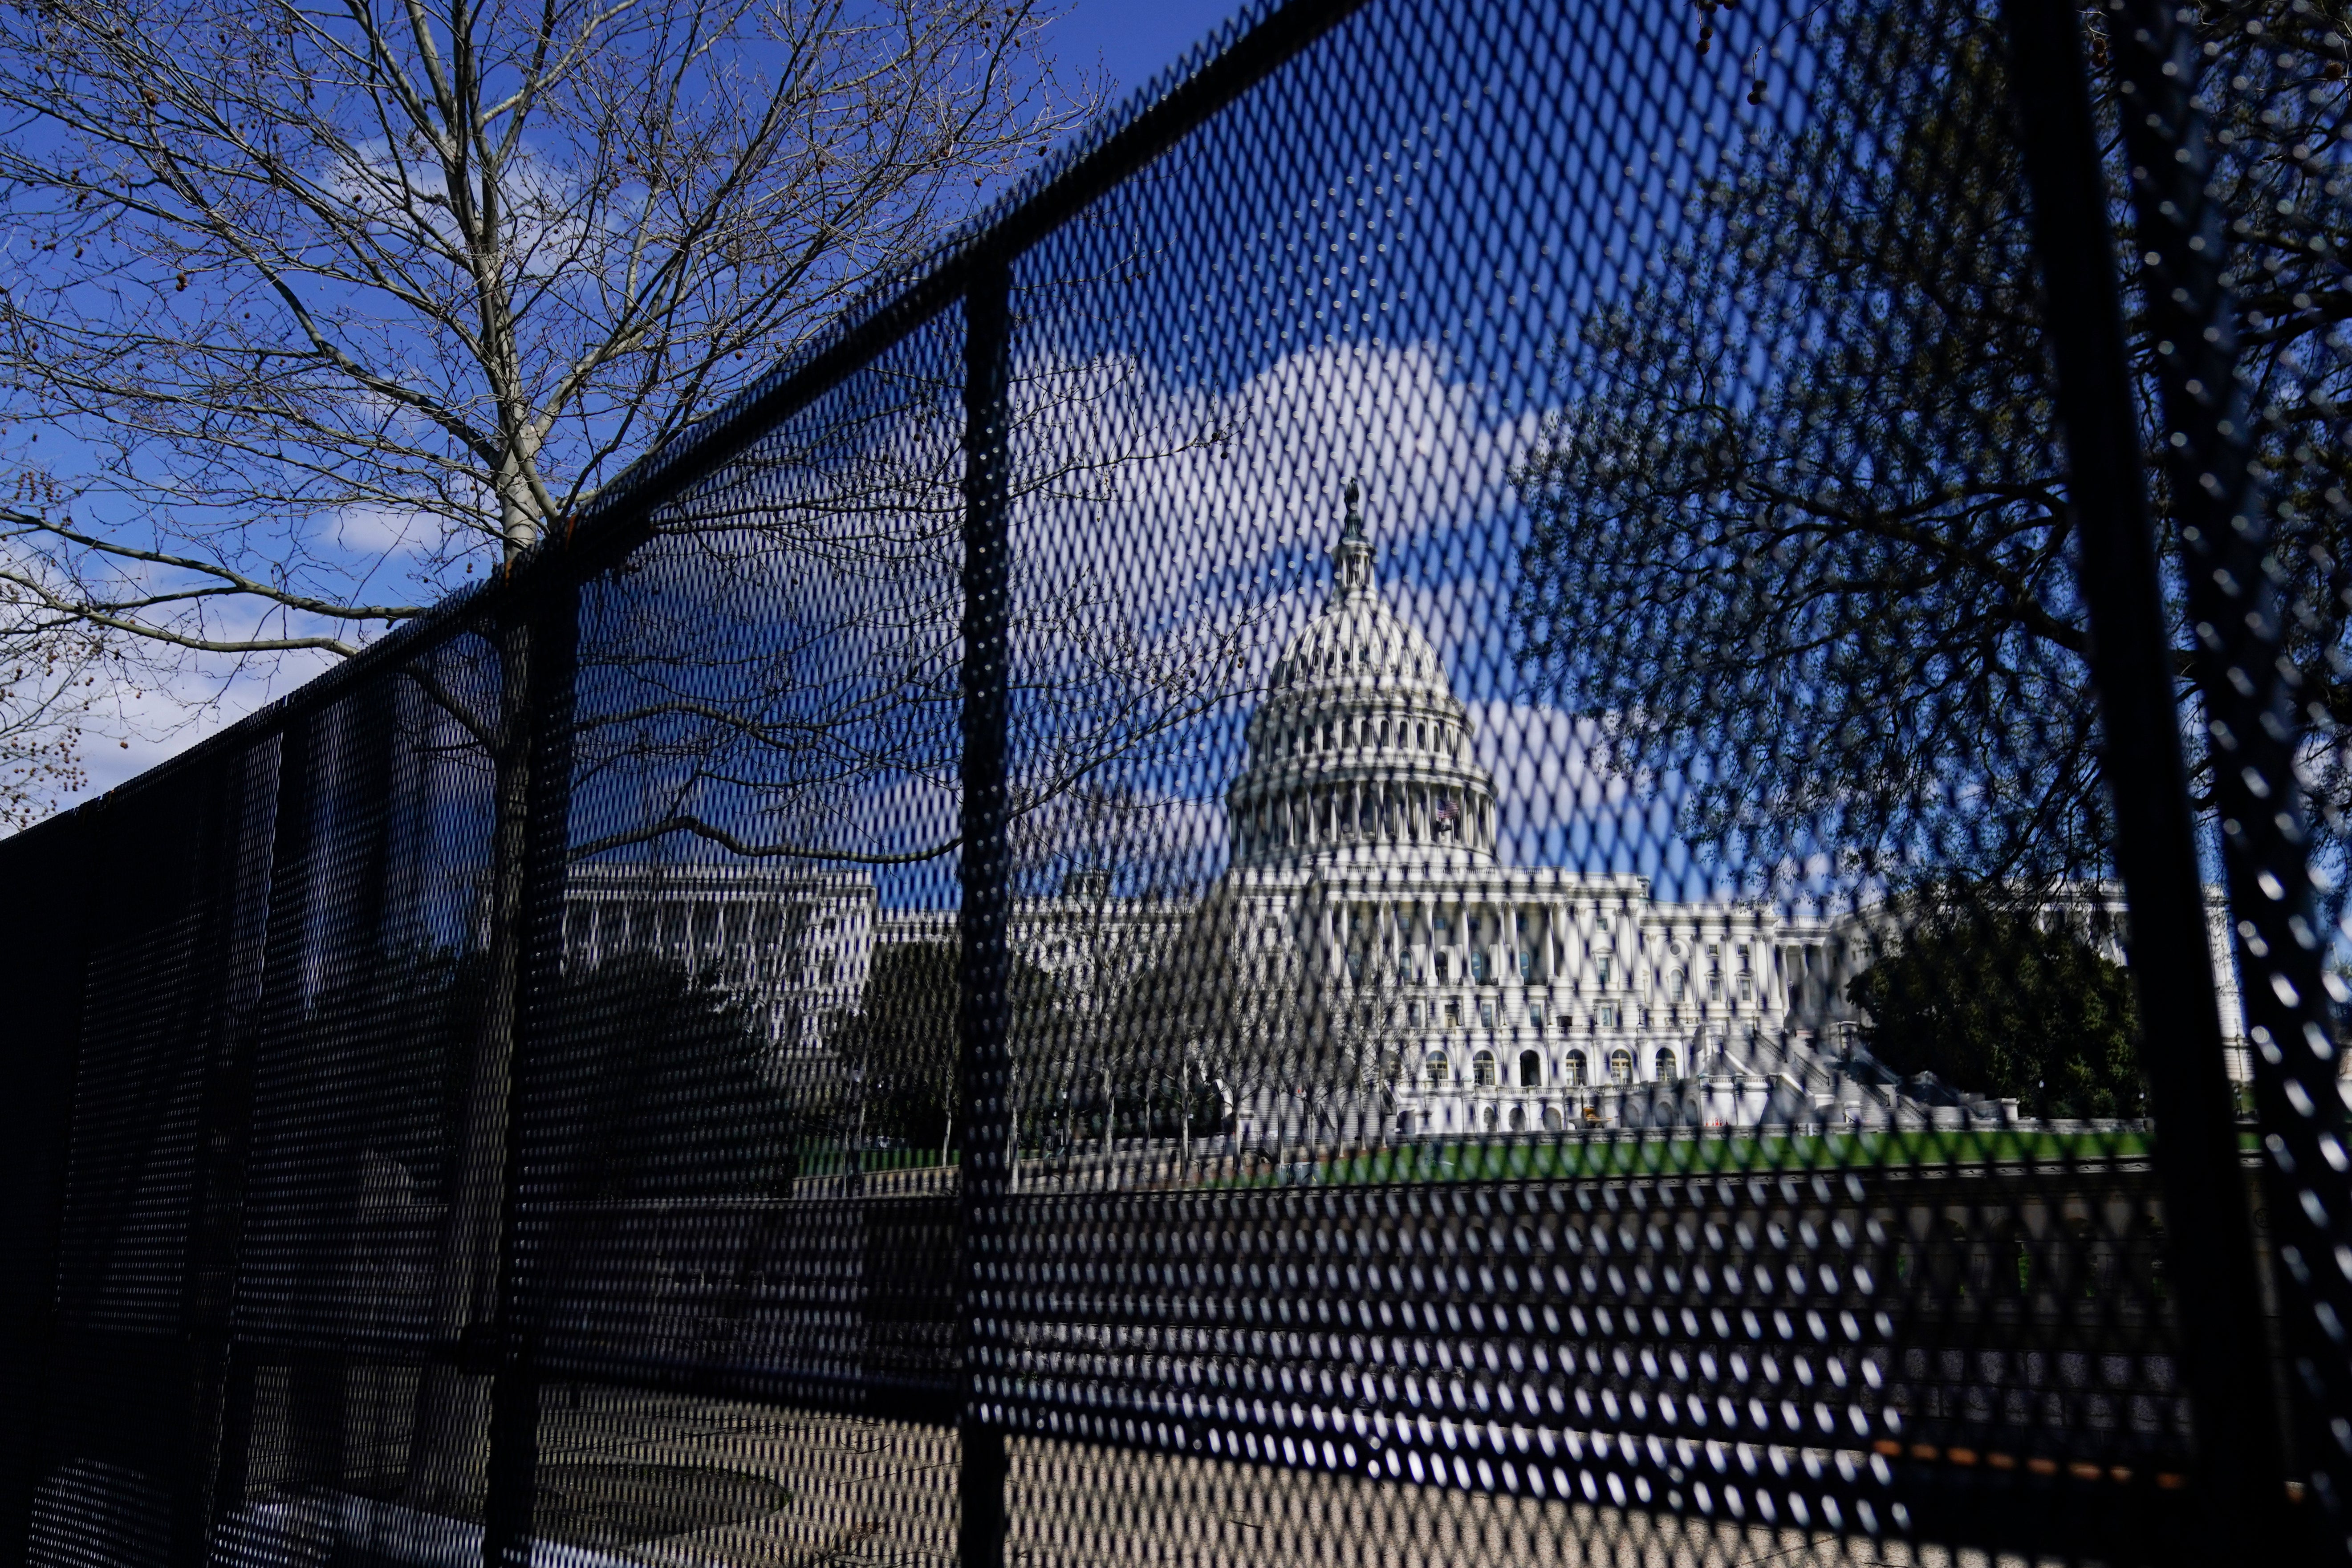
MULTIPOLYGON (((2169 1274, 2197 1422, 2201 1561, 2293 1561, 2253 1222, 2237 1157, 2187 795, 2173 644, 2140 468, 2114 235, 2077 7, 2006 7, 2034 252, 2042 268, 2067 494, 2082 536, 2091 679, 2110 757, 2114 863, 2131 900, 2131 976, 2157 1121, 2169 1274), (2126 766, 2129 764, 2129 766, 2126 766)), ((2126 115, 2129 118, 2129 115, 2126 115)), ((2260 576, 2260 574, 2256 574, 2260 576)))

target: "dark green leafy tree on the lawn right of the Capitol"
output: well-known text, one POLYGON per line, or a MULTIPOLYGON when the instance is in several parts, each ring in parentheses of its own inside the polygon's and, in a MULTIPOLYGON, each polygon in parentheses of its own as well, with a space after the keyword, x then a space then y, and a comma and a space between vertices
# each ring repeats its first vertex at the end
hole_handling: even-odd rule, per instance
POLYGON ((1896 1072, 1933 1072, 2032 1117, 2140 1117, 2131 976, 2065 926, 1945 910, 1846 983, 1863 1039, 1896 1072))

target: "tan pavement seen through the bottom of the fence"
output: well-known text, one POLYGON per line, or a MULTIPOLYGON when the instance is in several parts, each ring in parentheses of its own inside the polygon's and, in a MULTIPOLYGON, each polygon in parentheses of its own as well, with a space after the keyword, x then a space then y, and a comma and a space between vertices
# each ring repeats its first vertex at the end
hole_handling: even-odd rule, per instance
MULTIPOLYGON (((955 1561, 948 1432, 609 1392, 550 1403, 541 1533, 604 1561, 955 1561)), ((1009 1561, 1021 1568, 2023 1561, 1068 1443, 1018 1441, 1011 1465, 1009 1561)))

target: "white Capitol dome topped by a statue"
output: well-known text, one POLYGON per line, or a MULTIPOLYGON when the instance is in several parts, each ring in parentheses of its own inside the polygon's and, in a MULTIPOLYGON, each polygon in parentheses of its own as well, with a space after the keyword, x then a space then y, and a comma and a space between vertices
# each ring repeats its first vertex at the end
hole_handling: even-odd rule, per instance
POLYGON ((1494 865, 1494 780, 1470 759, 1470 715, 1371 564, 1350 484, 1331 602, 1275 661, 1225 792, 1235 865, 1494 865))

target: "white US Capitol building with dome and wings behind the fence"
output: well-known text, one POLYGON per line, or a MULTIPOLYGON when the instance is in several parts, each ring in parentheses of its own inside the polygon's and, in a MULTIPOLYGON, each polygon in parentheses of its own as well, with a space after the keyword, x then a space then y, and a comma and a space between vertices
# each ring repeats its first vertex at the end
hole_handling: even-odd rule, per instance
MULTIPOLYGON (((1352 496, 1331 574, 1329 604, 1284 646, 1249 719, 1249 759, 1225 792, 1230 865, 1202 905, 1216 905, 1235 994, 1369 1023, 1381 1070, 1341 1088, 1230 1081, 1235 1133, 1355 1143, 2013 1114, 1969 1086, 1896 1081, 1858 1048, 1844 987, 1898 938, 1889 905, 1811 917, 1670 903, 1646 877, 1503 865, 1470 715, 1428 637, 1381 597, 1352 496)), ((1016 905, 1014 943, 1098 994, 1155 943, 1197 938, 1202 905, 1073 877, 1016 905)), ((2044 919, 2074 922, 2122 959, 2119 907, 2119 889, 2084 884, 2044 919)), ((2218 896, 2209 910, 2244 1079, 2218 896)), ((574 867, 564 929, 574 964, 659 947, 720 973, 795 1056, 823 1051, 823 1020, 861 1004, 877 947, 953 940, 955 914, 882 907, 861 872, 602 863, 574 867)))

